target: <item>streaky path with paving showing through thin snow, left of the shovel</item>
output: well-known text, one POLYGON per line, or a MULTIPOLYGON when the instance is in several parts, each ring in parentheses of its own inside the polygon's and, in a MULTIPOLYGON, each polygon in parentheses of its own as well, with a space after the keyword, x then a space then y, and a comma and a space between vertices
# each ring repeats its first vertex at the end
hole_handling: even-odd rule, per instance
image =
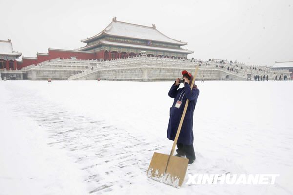
POLYGON ((70 113, 30 93, 19 94, 19 97, 22 98, 15 100, 20 103, 15 104, 14 111, 32 117, 45 127, 50 132, 48 144, 65 149, 68 156, 81 165, 87 175, 84 182, 89 184, 89 193, 122 188, 135 181, 137 175, 146 175, 150 162, 146 153, 163 148, 105 121, 70 113))

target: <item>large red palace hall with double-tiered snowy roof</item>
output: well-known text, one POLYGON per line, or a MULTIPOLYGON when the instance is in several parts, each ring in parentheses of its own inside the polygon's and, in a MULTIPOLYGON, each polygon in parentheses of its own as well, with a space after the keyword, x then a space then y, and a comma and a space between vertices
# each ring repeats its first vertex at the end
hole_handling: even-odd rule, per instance
POLYGON ((85 47, 78 51, 95 52, 101 59, 111 60, 145 54, 152 57, 186 59, 193 53, 181 46, 186 42, 167 37, 152 27, 117 21, 116 17, 100 33, 81 40, 85 47))

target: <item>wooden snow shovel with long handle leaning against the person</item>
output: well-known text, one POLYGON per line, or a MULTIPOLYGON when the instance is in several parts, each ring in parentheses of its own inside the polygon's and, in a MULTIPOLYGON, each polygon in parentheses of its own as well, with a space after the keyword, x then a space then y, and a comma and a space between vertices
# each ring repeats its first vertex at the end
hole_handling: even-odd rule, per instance
MULTIPOLYGON (((191 83, 191 90, 194 85, 197 70, 198 66, 195 68, 194 77, 191 83)), ((150 165, 147 170, 148 177, 174 187, 179 187, 182 185, 188 166, 187 158, 173 156, 175 146, 177 144, 177 140, 181 131, 182 123, 185 117, 185 113, 188 107, 188 103, 189 100, 187 99, 170 154, 166 155, 154 152, 154 155, 150 161, 150 165)))

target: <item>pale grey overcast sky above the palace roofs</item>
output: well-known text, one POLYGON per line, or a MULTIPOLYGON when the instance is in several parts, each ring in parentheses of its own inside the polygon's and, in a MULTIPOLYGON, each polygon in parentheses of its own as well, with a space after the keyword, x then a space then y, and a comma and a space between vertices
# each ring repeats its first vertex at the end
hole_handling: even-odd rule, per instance
POLYGON ((0 39, 35 57, 75 49, 112 20, 188 42, 188 58, 272 65, 293 60, 293 0, 0 0, 0 39))

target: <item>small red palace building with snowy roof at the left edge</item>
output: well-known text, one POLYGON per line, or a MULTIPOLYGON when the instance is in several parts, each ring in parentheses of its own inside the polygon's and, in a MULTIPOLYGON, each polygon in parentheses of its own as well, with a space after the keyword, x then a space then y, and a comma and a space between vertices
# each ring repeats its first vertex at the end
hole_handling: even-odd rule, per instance
POLYGON ((0 40, 0 69, 17 69, 16 59, 21 55, 22 54, 20 52, 13 51, 10 39, 0 40))

